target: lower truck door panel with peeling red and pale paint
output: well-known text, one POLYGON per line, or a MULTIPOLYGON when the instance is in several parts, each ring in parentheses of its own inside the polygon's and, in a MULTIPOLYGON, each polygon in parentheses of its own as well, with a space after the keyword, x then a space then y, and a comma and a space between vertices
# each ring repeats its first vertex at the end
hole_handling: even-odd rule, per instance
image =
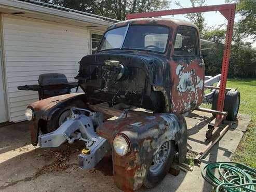
POLYGON ((199 59, 181 59, 170 62, 171 109, 185 113, 201 104, 204 97, 204 70, 199 59))

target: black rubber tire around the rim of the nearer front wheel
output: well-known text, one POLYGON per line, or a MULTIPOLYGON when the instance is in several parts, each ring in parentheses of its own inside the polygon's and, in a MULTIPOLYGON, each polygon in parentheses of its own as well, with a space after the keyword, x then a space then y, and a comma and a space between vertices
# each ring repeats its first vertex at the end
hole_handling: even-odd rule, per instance
POLYGON ((159 171, 153 172, 151 171, 151 169, 149 169, 146 175, 146 179, 143 183, 143 186, 146 188, 153 188, 156 185, 158 185, 164 179, 164 177, 166 176, 166 174, 171 168, 171 164, 175 154, 175 142, 174 141, 167 141, 167 142, 170 146, 170 152, 168 154, 168 157, 163 162, 163 165, 160 167, 159 171))

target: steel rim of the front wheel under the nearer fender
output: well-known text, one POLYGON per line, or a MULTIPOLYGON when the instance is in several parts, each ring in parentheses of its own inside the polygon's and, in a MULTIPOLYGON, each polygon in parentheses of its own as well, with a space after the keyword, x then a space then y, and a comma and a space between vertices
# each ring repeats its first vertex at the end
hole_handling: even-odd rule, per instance
POLYGON ((150 166, 150 171, 153 174, 157 174, 165 166, 165 162, 168 159, 170 151, 171 147, 170 142, 168 141, 161 145, 161 147, 157 150, 150 166))

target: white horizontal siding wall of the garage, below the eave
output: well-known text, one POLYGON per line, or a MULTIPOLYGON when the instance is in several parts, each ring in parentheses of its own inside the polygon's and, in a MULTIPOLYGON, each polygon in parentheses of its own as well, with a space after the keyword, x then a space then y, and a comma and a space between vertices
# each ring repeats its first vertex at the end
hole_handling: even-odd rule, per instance
POLYGON ((36 91, 17 86, 37 84, 39 74, 63 73, 75 81, 78 61, 88 54, 86 28, 21 16, 3 16, 9 121, 24 120, 25 107, 38 100, 36 91))

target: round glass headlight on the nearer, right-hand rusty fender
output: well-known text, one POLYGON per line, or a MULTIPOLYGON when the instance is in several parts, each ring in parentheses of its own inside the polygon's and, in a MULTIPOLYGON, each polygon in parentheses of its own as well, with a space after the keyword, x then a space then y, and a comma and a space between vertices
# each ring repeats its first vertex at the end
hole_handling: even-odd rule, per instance
POLYGON ((115 139, 113 140, 113 147, 115 152, 120 156, 125 156, 130 152, 129 143, 124 134, 117 134, 115 139))

